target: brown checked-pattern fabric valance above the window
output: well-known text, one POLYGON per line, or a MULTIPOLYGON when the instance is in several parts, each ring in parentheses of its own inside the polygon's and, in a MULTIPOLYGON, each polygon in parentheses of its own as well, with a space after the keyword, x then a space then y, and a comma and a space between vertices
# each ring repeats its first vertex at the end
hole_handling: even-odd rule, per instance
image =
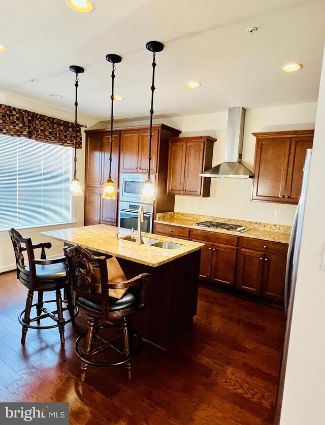
MULTIPOLYGON (((75 146, 74 122, 2 104, 0 104, 0 133, 39 142, 75 146)), ((81 145, 81 130, 78 124, 77 148, 81 148, 81 145)))

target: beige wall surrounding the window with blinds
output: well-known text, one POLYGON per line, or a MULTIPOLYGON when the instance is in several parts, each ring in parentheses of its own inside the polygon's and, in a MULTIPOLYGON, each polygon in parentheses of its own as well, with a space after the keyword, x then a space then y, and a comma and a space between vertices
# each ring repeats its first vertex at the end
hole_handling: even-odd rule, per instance
MULTIPOLYGON (((74 121, 75 115, 74 112, 63 111, 61 109, 56 109, 50 107, 45 104, 41 104, 38 102, 30 101, 28 99, 24 99, 23 97, 14 96, 12 94, 0 92, 0 103, 5 105, 14 106, 16 108, 27 109, 29 111, 38 112, 40 114, 45 114, 53 117, 57 117, 60 119, 74 121)), ((72 105, 73 109, 73 105, 72 105)), ((93 118, 89 118, 86 116, 79 115, 78 121, 85 123, 88 126, 93 125, 96 120, 93 118)), ((84 137, 85 134, 82 132, 83 146, 84 146, 84 137)), ((81 182, 82 187, 84 187, 84 174, 85 174, 85 149, 77 150, 77 171, 78 178, 81 182)), ((49 240, 48 238, 43 237, 40 233, 50 231, 54 228, 63 228, 63 227, 71 227, 71 226, 82 226, 83 225, 83 215, 84 215, 84 198, 78 197, 73 198, 73 202, 75 203, 74 211, 75 211, 75 221, 74 224, 68 225, 58 225, 58 226, 44 226, 38 228, 30 228, 25 231, 21 231, 21 233, 25 236, 30 236, 32 241, 39 242, 49 240)), ((55 257, 58 255, 62 255, 62 244, 58 241, 51 240, 52 248, 51 248, 51 256, 55 257)), ((49 252, 49 251, 48 251, 49 252)), ((12 244, 8 235, 8 232, 0 232, 0 273, 12 270, 16 268, 15 264, 15 256, 12 248, 12 244)))

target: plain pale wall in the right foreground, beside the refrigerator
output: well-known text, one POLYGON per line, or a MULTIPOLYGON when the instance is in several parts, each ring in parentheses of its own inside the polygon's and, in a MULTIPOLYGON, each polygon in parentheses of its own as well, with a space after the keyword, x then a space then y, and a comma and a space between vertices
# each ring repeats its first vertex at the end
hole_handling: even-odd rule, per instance
POLYGON ((299 257, 281 425, 325 423, 325 55, 299 257))

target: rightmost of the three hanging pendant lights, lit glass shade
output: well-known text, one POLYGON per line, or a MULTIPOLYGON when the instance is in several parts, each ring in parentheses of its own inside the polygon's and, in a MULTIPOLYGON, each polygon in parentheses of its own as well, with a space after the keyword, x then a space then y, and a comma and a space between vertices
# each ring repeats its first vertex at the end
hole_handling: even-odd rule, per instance
POLYGON ((163 43, 159 41, 149 41, 146 44, 147 50, 153 52, 152 60, 152 84, 151 84, 151 108, 150 108, 150 130, 149 130, 149 154, 148 154, 148 178, 143 183, 141 202, 146 202, 152 204, 155 200, 154 197, 154 185, 151 181, 150 169, 151 169, 151 140, 152 140, 152 115, 153 115, 153 92, 155 89, 154 86, 154 70, 156 67, 156 52, 161 52, 164 49, 163 43))

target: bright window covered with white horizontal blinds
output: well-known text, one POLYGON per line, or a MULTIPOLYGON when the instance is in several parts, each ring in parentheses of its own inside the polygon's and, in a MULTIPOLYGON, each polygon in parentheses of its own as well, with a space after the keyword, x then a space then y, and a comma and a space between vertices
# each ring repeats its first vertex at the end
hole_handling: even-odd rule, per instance
POLYGON ((71 221, 73 149, 0 135, 0 230, 71 221))

